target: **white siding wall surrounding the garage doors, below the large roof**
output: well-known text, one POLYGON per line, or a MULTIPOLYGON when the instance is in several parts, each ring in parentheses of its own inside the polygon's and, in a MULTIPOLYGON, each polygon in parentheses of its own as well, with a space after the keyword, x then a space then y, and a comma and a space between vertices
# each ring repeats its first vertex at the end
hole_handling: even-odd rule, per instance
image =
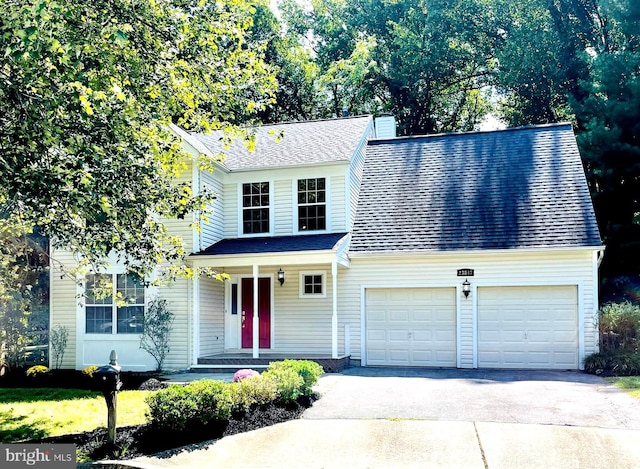
POLYGON ((477 288, 580 285, 579 323, 584 328, 580 340, 583 341, 584 355, 588 355, 597 346, 593 318, 597 302, 594 301, 593 279, 593 257, 588 250, 352 256, 351 268, 340 271, 338 322, 341 331, 345 323, 349 324, 352 358, 360 359, 365 287, 456 287, 458 366, 472 368, 477 366, 474 362, 477 288), (475 269, 475 276, 469 277, 471 294, 468 299, 461 292, 464 278, 457 277, 457 270, 461 268, 475 269))

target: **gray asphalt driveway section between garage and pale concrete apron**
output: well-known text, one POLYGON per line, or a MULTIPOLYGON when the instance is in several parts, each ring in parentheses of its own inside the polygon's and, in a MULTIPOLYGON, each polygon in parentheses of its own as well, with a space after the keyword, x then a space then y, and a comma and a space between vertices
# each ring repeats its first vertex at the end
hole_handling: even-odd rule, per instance
POLYGON ((306 419, 421 419, 640 430, 640 400, 579 372, 351 368, 306 419))

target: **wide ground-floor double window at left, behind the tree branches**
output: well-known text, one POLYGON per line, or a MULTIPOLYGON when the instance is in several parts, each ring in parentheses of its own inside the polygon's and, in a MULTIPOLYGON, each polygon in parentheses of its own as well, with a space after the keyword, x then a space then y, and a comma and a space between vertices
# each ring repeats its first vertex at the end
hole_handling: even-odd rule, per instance
POLYGON ((89 275, 85 287, 86 333, 142 333, 144 300, 144 284, 135 274, 89 275))

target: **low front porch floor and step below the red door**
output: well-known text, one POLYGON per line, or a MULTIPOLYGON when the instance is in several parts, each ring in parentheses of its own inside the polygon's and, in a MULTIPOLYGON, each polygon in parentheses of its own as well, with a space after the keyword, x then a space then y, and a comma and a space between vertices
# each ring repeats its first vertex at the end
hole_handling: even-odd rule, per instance
POLYGON ((230 352, 199 357, 198 364, 192 366, 191 370, 228 372, 242 368, 264 369, 271 362, 285 359, 311 360, 321 365, 327 373, 338 373, 350 366, 350 355, 332 358, 328 354, 260 352, 259 358, 253 358, 252 352, 230 352))

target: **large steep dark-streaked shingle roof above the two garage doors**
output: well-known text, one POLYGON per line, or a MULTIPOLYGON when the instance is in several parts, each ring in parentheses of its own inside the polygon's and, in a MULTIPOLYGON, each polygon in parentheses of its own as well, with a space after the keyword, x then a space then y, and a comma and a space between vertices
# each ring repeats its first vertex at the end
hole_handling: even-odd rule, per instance
POLYGON ((601 244, 570 124, 367 147, 352 252, 601 244))

